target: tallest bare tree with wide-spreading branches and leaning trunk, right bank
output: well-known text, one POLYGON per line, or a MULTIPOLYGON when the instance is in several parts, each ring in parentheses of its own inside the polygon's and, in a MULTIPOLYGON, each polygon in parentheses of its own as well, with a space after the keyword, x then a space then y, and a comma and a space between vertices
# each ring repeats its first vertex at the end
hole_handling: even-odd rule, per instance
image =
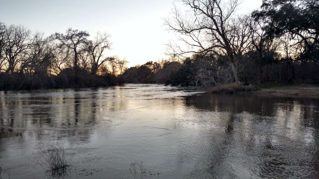
MULTIPOLYGON (((215 54, 226 56, 226 61, 233 70, 235 81, 239 83, 237 75, 236 50, 234 42, 247 40, 247 37, 236 37, 240 32, 234 24, 234 12, 240 4, 238 0, 230 0, 227 4, 220 0, 180 0, 190 11, 182 14, 175 6, 173 20, 167 19, 168 30, 181 34, 180 40, 186 44, 183 48, 179 44, 168 44, 173 56, 188 54, 215 54), (236 32, 237 31, 237 32, 236 32)), ((244 29, 242 29, 244 30, 244 29)))

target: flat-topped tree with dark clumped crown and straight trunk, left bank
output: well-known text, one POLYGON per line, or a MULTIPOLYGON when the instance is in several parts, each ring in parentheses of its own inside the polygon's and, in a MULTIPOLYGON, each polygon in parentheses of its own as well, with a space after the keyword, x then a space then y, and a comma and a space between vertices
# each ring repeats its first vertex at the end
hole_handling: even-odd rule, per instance
POLYGON ((62 45, 72 49, 74 54, 73 68, 77 72, 79 50, 83 49, 83 46, 88 43, 87 37, 89 37, 90 34, 87 31, 72 30, 72 28, 69 28, 65 35, 56 32, 53 36, 59 40, 62 45))

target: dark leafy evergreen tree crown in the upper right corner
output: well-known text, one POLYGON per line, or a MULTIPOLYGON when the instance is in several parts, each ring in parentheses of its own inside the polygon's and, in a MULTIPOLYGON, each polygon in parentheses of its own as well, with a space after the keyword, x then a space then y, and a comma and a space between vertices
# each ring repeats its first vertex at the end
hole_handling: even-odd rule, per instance
POLYGON ((289 46, 299 46, 301 58, 318 61, 319 1, 317 0, 263 0, 260 11, 254 11, 256 20, 263 20, 263 29, 269 38, 286 33, 291 36, 289 46))

